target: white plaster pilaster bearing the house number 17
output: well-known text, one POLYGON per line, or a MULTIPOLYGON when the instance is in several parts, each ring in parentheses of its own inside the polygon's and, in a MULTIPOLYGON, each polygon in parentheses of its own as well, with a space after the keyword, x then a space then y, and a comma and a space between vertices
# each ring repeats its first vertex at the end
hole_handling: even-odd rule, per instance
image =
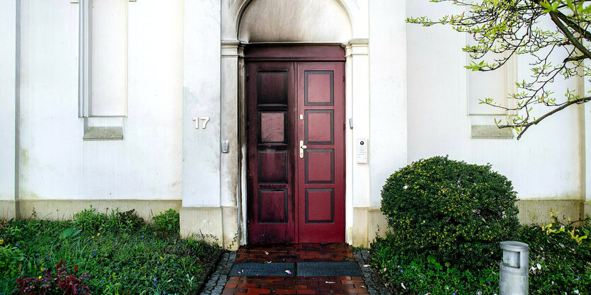
POLYGON ((183 207, 219 207, 221 4, 185 1, 183 207), (195 129, 193 117, 210 117, 195 129))

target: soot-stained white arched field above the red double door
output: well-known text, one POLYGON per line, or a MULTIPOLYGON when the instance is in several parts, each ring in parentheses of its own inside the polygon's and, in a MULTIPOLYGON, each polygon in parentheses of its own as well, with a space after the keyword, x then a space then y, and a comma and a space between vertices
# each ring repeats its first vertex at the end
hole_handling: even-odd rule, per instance
POLYGON ((250 0, 241 5, 236 37, 249 43, 345 43, 352 18, 345 0, 250 0))

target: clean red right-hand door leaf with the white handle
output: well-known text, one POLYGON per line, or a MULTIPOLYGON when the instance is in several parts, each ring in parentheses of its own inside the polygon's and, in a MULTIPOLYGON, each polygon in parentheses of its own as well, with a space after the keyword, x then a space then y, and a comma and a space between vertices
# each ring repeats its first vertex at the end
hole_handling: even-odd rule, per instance
POLYGON ((343 63, 299 62, 297 166, 299 243, 345 241, 345 131, 343 63), (299 149, 299 146, 298 146, 299 149))

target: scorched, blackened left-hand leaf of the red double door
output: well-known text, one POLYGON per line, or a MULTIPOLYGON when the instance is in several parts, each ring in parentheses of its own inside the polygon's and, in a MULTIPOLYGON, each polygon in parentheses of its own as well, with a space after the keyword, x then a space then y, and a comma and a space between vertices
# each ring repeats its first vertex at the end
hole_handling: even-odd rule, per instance
POLYGON ((294 243, 294 64, 248 64, 248 243, 294 243))

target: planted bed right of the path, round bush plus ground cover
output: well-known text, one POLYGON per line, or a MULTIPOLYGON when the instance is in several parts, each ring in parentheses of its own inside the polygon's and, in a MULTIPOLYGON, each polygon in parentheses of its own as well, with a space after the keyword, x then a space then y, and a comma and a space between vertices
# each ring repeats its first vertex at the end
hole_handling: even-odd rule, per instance
POLYGON ((490 166, 421 160, 391 175, 382 197, 390 231, 372 263, 394 294, 498 294, 498 243, 510 240, 529 244, 529 294, 591 291, 589 220, 519 226, 512 185, 490 166))

